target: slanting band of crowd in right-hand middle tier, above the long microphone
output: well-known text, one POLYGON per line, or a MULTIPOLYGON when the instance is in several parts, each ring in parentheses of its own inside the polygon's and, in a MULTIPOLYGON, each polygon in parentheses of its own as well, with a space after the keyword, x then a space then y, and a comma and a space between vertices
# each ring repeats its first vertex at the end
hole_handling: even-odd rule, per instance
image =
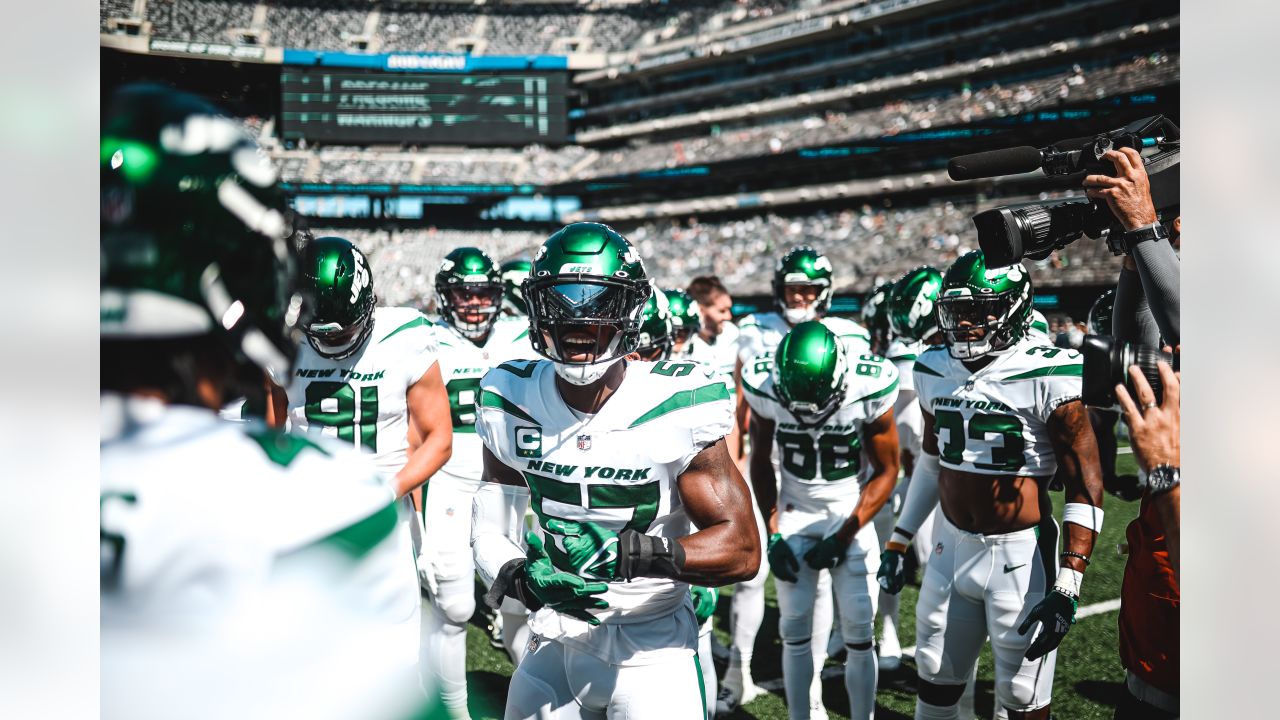
POLYGON ((1078 65, 1065 74, 1025 83, 968 86, 945 97, 893 100, 879 108, 855 111, 827 110, 804 118, 753 124, 737 129, 713 128, 710 135, 663 142, 636 142, 602 152, 582 173, 604 177, 657 168, 717 163, 735 158, 771 155, 836 142, 870 140, 936 127, 966 124, 983 118, 1052 109, 1084 99, 1107 97, 1176 82, 1180 55, 1156 54, 1111 68, 1084 72, 1078 65))

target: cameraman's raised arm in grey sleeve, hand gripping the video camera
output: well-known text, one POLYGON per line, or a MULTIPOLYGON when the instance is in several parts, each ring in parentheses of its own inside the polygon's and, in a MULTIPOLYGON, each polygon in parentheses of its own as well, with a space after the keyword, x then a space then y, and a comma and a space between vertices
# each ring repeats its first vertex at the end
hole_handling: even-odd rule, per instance
MULTIPOLYGON (((1138 151, 1121 147, 1119 151, 1108 150, 1103 156, 1115 165, 1116 177, 1088 176, 1084 178, 1087 195, 1105 200, 1126 231, 1157 222, 1151 182, 1138 151)), ((1148 241, 1134 246, 1130 256, 1125 258, 1125 269, 1116 288, 1116 337, 1158 346, 1160 341, 1153 340, 1151 328, 1146 327, 1155 322, 1165 342, 1178 345, 1181 322, 1178 279, 1179 260, 1172 245, 1148 241), (1130 325, 1134 318, 1137 325, 1130 325), (1134 334, 1125 337, 1129 332, 1134 334)))

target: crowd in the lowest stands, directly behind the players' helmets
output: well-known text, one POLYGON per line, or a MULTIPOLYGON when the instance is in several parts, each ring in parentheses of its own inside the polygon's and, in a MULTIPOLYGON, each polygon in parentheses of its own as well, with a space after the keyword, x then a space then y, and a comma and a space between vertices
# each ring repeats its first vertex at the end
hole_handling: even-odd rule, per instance
MULTIPOLYGON (((986 205, 984 205, 986 206, 986 205)), ((773 264, 795 245, 812 245, 836 266, 837 292, 864 292, 918 265, 946 266, 977 250, 975 201, 915 208, 863 205, 812 215, 764 214, 699 222, 696 218, 618 225, 640 251, 660 286, 682 287, 689 278, 716 274, 735 293, 767 295, 773 264)), ((529 258, 545 240, 534 231, 315 231, 342 234, 370 254, 374 284, 392 305, 430 299, 440 259, 470 245, 497 260, 529 258)), ((1105 284, 1119 272, 1117 258, 1097 240, 1082 238, 1044 260, 1025 260, 1033 282, 1044 286, 1105 284)))

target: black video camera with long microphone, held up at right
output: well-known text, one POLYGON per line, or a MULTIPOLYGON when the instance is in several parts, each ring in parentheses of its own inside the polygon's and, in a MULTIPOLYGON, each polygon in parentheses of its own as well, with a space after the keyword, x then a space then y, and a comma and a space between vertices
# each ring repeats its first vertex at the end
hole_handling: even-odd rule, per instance
MULTIPOLYGON (((1065 140, 1039 150, 1014 147, 952 158, 948 172, 952 179, 968 179, 1038 168, 1047 176, 1070 177, 1078 186, 1084 174, 1114 176, 1115 165, 1103 155, 1133 147, 1143 154, 1157 214, 1162 222, 1171 222, 1179 205, 1180 145, 1178 126, 1164 115, 1152 115, 1092 138, 1065 140)), ((992 208, 974 215, 973 223, 978 245, 992 268, 1012 265, 1023 258, 1041 260, 1082 234, 1106 237, 1115 255, 1128 251, 1119 241, 1125 231, 1107 204, 1088 199, 992 208)))

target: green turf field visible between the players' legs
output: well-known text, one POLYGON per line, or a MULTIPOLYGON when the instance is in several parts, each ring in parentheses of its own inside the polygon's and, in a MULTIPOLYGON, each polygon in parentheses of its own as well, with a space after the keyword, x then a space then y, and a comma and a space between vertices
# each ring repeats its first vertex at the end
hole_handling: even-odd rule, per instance
MULTIPOLYGON (((1132 455, 1120 455, 1116 461, 1117 473, 1134 473, 1132 455)), ((1055 516, 1062 516, 1062 495, 1052 493, 1055 516)), ((1125 559, 1116 546, 1124 542, 1124 530, 1138 515, 1137 502, 1124 502, 1112 496, 1103 500, 1106 523, 1102 537, 1098 538, 1093 562, 1084 575, 1080 607, 1120 597, 1120 579, 1125 559)), ((716 634, 728 644, 728 614, 731 588, 721 594, 716 614, 716 634)), ((899 637, 902 647, 915 644, 915 600, 919 587, 908 585, 902 591, 901 623, 899 637)), ((755 657, 751 673, 755 680, 765 682, 780 678, 781 641, 778 639, 778 610, 773 593, 773 578, 765 587, 764 624, 755 644, 755 657)), ((1101 612, 1079 620, 1062 641, 1057 653, 1057 670, 1053 678, 1053 715, 1075 720, 1110 719, 1116 698, 1124 692, 1124 670, 1116 646, 1116 612, 1101 612)), ((828 664, 829 665, 829 664, 828 664)), ((471 693, 471 716, 476 720, 502 717, 506 701, 507 678, 513 667, 504 652, 493 650, 486 635, 475 626, 467 630, 467 682, 471 693)), ((717 664, 723 675, 724 667, 717 664)), ((902 670, 893 675, 881 674, 877 696, 877 717, 910 719, 915 707, 915 666, 904 661, 902 670)), ((984 650, 978 661, 978 694, 975 710, 979 717, 992 714, 992 664, 991 650, 984 650)), ((832 717, 849 717, 849 701, 845 696, 844 678, 836 676, 823 683, 823 702, 832 717)), ((787 716, 781 688, 765 693, 739 710, 732 717, 762 720, 782 720, 787 716)))

